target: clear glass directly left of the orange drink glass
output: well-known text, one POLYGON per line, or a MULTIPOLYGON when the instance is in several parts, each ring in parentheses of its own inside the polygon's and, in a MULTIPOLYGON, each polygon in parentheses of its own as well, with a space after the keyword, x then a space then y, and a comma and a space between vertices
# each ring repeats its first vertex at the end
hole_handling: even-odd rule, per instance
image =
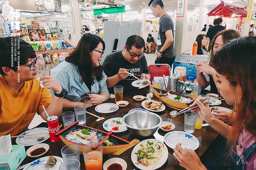
POLYGON ((76 144, 69 144, 64 146, 61 149, 63 161, 66 161, 69 159, 76 159, 80 161, 79 149, 80 149, 79 145, 76 145, 76 144))

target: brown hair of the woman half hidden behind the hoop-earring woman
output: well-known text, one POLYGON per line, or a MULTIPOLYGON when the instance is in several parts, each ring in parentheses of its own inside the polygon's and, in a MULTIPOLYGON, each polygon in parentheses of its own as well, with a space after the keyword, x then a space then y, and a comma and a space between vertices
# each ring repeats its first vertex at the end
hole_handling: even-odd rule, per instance
POLYGON ((223 44, 226 44, 228 41, 234 39, 234 38, 240 38, 241 35, 234 29, 225 29, 225 30, 222 30, 221 32, 219 32, 218 34, 216 34, 213 38, 213 40, 210 42, 209 44, 209 47, 210 49, 212 50, 210 55, 212 56, 213 55, 213 46, 214 46, 214 42, 216 40, 216 38, 219 36, 219 35, 222 35, 222 40, 223 40, 223 44))

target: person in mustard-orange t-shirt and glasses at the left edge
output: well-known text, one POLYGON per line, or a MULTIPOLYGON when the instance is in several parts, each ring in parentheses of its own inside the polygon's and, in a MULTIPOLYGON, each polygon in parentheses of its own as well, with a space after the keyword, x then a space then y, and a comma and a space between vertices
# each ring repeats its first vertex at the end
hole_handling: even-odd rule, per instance
POLYGON ((49 116, 60 116, 62 86, 50 76, 41 77, 39 80, 45 87, 40 86, 36 79, 39 57, 36 58, 29 43, 14 36, 0 38, 0 61, 0 136, 26 131, 35 114, 47 120, 42 106, 49 116), (20 53, 17 57, 14 49, 20 53), (53 98, 48 89, 54 91, 53 98))

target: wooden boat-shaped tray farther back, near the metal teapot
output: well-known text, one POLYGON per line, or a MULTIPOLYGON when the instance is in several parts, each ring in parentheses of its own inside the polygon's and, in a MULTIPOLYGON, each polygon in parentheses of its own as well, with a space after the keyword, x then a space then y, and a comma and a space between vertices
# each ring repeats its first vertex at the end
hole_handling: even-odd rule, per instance
POLYGON ((149 83, 149 86, 152 89, 153 94, 156 95, 156 97, 160 98, 163 102, 165 102, 167 104, 167 106, 169 106, 171 108, 174 108, 176 110, 181 111, 182 109, 185 109, 190 104, 192 104, 194 102, 194 100, 196 100, 196 98, 192 98, 192 97, 176 94, 176 93, 171 92, 171 91, 166 91, 166 90, 155 88, 150 83, 149 83), (162 92, 162 94, 160 94, 160 92, 162 92), (177 102, 177 101, 171 100, 169 98, 166 98, 165 95, 167 95, 167 92, 169 92, 171 94, 174 94, 174 95, 179 95, 179 96, 182 96, 182 97, 186 97, 186 98, 191 98, 192 100, 188 103, 177 102))

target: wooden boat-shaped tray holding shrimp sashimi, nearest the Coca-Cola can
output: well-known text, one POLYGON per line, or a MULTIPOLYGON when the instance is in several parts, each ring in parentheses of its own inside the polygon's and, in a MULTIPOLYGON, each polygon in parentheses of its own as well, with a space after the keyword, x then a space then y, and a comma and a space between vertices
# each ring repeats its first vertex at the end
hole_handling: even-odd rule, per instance
MULTIPOLYGON (((74 122, 73 124, 67 126, 66 128, 60 130, 59 132, 57 132, 55 134, 55 136, 59 136, 60 139, 62 140, 63 143, 65 143, 65 145, 74 143, 71 142, 69 140, 67 140, 65 138, 66 135, 69 134, 70 131, 74 131, 76 129, 86 129, 88 131, 90 131, 91 129, 96 130, 96 134, 102 134, 103 136, 107 136, 107 132, 98 130, 98 129, 94 129, 94 128, 90 128, 88 126, 84 126, 84 125, 79 125, 78 121, 74 122)), ((103 146, 103 154, 114 154, 114 155, 120 155, 121 153, 123 153, 124 151, 128 150, 129 148, 133 147, 134 145, 136 145, 137 143, 139 143, 140 141, 138 139, 134 139, 131 142, 128 142, 126 140, 123 140, 122 138, 119 138, 117 136, 114 135, 110 135, 108 140, 113 143, 112 146, 107 146, 106 143, 103 142, 102 146, 103 146)), ((77 143, 75 143, 77 144, 77 143)), ((80 145, 77 144, 80 147, 80 154, 82 153, 82 148, 84 147, 84 145, 80 145)))

